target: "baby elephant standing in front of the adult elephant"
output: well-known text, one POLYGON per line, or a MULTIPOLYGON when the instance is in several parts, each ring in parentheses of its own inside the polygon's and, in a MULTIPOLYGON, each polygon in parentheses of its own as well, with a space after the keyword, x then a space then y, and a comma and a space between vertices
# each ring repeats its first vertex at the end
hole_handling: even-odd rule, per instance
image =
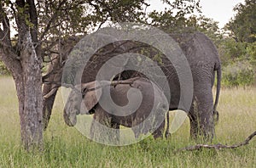
POLYGON ((102 132, 111 137, 113 132, 118 131, 115 134, 118 137, 112 137, 119 139, 120 125, 131 127, 135 137, 150 132, 157 138, 166 137, 168 133, 164 133, 168 109, 164 93, 146 78, 92 81, 76 86, 70 93, 64 119, 68 126, 74 126, 76 115, 94 114, 90 127, 91 138, 101 138, 102 132))

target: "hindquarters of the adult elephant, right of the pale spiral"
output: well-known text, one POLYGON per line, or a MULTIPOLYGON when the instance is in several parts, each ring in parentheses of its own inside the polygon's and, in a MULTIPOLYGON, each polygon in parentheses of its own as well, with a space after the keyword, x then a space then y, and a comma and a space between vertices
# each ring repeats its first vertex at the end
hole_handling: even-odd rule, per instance
MULTIPOLYGON (((179 43, 193 76, 194 96, 189 109, 190 136, 212 139, 215 135, 214 119, 218 120, 218 98, 221 81, 221 63, 212 41, 202 33, 172 36, 179 43), (185 41, 184 41, 185 40, 185 41), (212 86, 217 71, 217 90, 213 104, 212 86)), ((172 89, 172 88, 171 88, 172 89)))

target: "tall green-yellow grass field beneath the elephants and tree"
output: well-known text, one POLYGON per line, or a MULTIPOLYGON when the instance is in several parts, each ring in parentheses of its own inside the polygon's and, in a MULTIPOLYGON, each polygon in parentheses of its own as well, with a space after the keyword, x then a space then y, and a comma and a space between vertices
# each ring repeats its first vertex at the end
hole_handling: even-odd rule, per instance
MULTIPOLYGON (((189 120, 167 140, 147 138, 125 147, 90 142, 62 118, 61 94, 55 102, 49 128, 44 132, 44 151, 26 153, 20 147, 20 127, 15 85, 0 77, 0 167, 256 167, 256 139, 236 149, 203 149, 174 154, 189 141, 189 120)), ((243 141, 256 128, 256 89, 221 91, 220 120, 213 143, 243 141)))

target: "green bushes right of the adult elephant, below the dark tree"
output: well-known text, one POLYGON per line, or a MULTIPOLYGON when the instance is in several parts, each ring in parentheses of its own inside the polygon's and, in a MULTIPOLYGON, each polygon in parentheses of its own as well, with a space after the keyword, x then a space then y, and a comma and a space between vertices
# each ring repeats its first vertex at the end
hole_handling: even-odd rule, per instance
POLYGON ((256 82, 255 52, 255 42, 236 42, 230 37, 220 40, 218 53, 223 67, 224 86, 251 86, 256 82))

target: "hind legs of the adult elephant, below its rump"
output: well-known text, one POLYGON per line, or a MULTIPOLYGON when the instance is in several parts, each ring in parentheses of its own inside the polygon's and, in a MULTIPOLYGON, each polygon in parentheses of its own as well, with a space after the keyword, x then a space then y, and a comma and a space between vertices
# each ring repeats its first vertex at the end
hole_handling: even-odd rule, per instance
POLYGON ((197 139, 202 136, 204 140, 212 140, 215 135, 212 90, 197 93, 189 109, 190 137, 197 139))

